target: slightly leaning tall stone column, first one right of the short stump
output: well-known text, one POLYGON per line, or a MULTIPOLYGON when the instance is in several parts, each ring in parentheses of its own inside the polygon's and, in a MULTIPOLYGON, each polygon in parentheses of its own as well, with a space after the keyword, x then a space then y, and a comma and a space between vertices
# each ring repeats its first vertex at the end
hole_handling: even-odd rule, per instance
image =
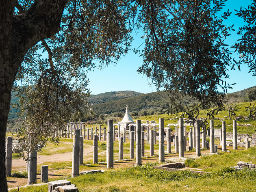
POLYGON ((74 129, 73 153, 72 153, 72 177, 79 176, 80 157, 80 130, 74 129))

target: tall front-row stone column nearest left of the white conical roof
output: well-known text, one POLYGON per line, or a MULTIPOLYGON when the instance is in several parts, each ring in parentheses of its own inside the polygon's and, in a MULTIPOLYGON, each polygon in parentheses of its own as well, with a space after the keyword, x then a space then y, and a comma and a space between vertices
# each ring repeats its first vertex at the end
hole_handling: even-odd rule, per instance
POLYGON ((108 119, 107 133, 107 168, 114 168, 114 140, 113 140, 113 119, 108 119))

